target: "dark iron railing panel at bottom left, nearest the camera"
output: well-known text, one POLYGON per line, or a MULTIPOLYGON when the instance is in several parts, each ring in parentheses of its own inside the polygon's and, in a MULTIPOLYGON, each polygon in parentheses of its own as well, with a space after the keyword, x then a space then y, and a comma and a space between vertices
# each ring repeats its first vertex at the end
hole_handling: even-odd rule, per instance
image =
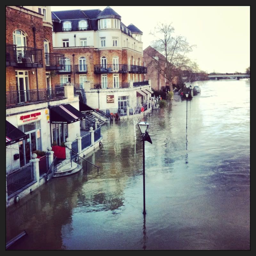
POLYGON ((11 195, 34 180, 33 164, 29 163, 20 169, 7 174, 7 194, 11 195))

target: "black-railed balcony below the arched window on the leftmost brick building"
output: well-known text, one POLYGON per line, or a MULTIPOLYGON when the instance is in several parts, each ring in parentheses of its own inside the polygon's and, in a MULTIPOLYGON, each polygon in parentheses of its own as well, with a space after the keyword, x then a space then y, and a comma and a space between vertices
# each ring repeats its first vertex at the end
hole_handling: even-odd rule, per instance
POLYGON ((43 68, 41 49, 6 44, 6 66, 20 68, 43 68))

